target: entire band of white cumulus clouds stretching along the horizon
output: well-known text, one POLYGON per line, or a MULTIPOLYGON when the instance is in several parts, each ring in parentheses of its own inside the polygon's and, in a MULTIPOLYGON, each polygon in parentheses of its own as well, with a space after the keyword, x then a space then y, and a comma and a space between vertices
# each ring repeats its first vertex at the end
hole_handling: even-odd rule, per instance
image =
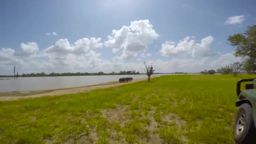
MULTIPOLYGON (((211 51, 214 40, 212 36, 205 37, 197 43, 195 37, 185 37, 178 43, 166 41, 162 44, 160 53, 171 59, 153 60, 155 56, 151 53, 155 52, 147 51, 147 47, 157 37, 158 34, 149 20, 140 20, 132 21, 129 26, 123 26, 121 29, 114 29, 104 44, 100 37, 85 37, 74 43, 70 43, 68 39, 59 39, 53 45, 40 49, 35 42, 21 43, 20 48, 0 49, 0 74, 12 74, 13 65, 19 69, 19 73, 120 70, 144 72, 144 57, 152 59, 146 62, 152 63, 156 72, 200 72, 204 69, 217 69, 240 60, 232 53, 216 55, 217 52, 211 51), (101 55, 103 52, 100 53, 97 49, 103 45, 111 47, 112 53, 119 51, 120 55, 104 59, 101 55)), ((154 46, 156 47, 155 44, 152 47, 154 46)))

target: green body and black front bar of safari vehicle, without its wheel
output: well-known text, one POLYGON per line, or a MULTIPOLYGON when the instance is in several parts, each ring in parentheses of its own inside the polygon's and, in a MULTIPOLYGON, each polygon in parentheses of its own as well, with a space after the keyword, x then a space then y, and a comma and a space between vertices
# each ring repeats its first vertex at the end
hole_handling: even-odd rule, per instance
POLYGON ((236 107, 241 104, 248 103, 253 109, 253 121, 256 127, 256 78, 253 79, 242 79, 237 82, 237 96, 236 107), (240 85, 243 82, 252 82, 245 84, 245 90, 240 91, 240 85))

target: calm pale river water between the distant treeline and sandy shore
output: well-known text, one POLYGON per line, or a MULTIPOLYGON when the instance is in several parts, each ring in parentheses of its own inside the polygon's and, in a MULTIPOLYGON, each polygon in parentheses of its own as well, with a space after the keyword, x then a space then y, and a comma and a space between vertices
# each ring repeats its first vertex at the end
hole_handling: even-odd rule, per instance
MULTIPOLYGON (((0 80, 0 92, 40 91, 59 88, 74 88, 117 81, 120 77, 133 77, 133 79, 138 79, 147 77, 147 75, 19 77, 15 80, 13 77, 11 77, 10 80, 0 80)), ((6 79, 6 77, 4 77, 4 79, 6 79)))

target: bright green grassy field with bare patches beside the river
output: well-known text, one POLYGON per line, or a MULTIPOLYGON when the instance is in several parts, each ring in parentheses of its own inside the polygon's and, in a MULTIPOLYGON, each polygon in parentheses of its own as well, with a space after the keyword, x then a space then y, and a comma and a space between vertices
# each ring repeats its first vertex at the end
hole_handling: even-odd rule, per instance
POLYGON ((170 75, 90 93, 0 101, 0 143, 232 144, 236 83, 170 75))

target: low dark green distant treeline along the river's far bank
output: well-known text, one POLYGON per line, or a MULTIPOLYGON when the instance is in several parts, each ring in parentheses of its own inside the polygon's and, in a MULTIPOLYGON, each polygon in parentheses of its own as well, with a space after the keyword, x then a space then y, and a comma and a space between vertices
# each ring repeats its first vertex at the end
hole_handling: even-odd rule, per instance
MULTIPOLYGON (((104 72, 65 72, 65 73, 55 73, 52 72, 50 74, 45 74, 45 72, 41 73, 31 73, 31 74, 22 74, 19 75, 19 77, 56 77, 56 76, 81 76, 81 75, 140 75, 139 72, 136 72, 135 70, 132 71, 120 71, 120 72, 110 72, 110 73, 104 73, 104 72)), ((0 75, 0 77, 13 77, 13 75, 0 75)))

